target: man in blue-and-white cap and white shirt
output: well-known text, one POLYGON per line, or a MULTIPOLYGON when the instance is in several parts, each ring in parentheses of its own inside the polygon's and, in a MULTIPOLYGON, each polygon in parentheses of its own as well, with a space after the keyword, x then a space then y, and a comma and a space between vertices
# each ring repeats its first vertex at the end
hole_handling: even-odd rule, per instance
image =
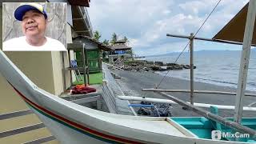
POLYGON ((22 4, 14 11, 14 18, 20 22, 24 36, 10 38, 3 42, 3 50, 66 51, 62 42, 46 37, 48 15, 43 5, 39 3, 22 4))

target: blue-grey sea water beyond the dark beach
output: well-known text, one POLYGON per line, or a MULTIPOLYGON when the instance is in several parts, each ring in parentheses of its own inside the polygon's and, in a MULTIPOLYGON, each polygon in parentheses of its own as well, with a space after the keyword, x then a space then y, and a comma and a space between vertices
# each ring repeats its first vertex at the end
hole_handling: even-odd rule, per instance
MULTIPOLYGON (((148 61, 174 62, 178 53, 146 57, 148 61)), ((241 51, 202 50, 194 52, 194 81, 206 82, 218 86, 237 88, 241 51)), ((190 54, 185 53, 178 59, 178 64, 190 64, 190 54)), ((159 72, 166 75, 167 71, 159 72)), ((171 70, 169 77, 190 79, 190 70, 171 70)), ((256 91, 256 50, 250 52, 250 65, 247 75, 246 90, 256 91)))

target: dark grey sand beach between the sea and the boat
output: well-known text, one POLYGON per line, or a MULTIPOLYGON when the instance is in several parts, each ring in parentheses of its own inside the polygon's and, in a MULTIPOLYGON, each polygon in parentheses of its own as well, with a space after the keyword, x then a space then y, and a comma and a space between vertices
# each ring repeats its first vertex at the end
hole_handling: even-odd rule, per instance
MULTIPOLYGON (((117 74, 121 79, 117 80, 121 87, 126 87, 128 90, 125 90, 126 95, 134 94, 139 97, 146 98, 165 98, 161 95, 154 92, 145 92, 142 91, 143 88, 154 88, 158 82, 161 81, 162 75, 154 74, 151 72, 134 72, 126 70, 112 70, 114 74, 117 74)), ((162 84, 158 86, 160 89, 175 89, 175 90, 189 90, 190 81, 179 79, 179 78, 170 78, 167 77, 164 79, 162 84)), ((216 86, 203 82, 194 82, 194 90, 213 90, 213 91, 229 91, 236 92, 234 88, 226 86, 216 86)), ((247 91, 248 93, 254 93, 247 91)), ((189 93, 168 93, 177 98, 189 102, 190 94, 189 93)), ((235 95, 224 95, 224 94, 194 94, 194 102, 198 103, 210 103, 217 105, 227 105, 234 106, 235 95)), ((245 97, 244 106, 249 105, 252 102, 256 102, 255 97, 245 97)), ((200 116, 195 114, 190 110, 182 110, 182 106, 176 104, 172 105, 172 115, 176 117, 188 117, 188 116, 200 116)), ((206 109, 207 110, 207 109, 206 109)), ((234 110, 219 110, 219 115, 222 117, 234 117, 234 110)), ((256 117, 256 112, 253 111, 244 111, 243 117, 256 117)))

